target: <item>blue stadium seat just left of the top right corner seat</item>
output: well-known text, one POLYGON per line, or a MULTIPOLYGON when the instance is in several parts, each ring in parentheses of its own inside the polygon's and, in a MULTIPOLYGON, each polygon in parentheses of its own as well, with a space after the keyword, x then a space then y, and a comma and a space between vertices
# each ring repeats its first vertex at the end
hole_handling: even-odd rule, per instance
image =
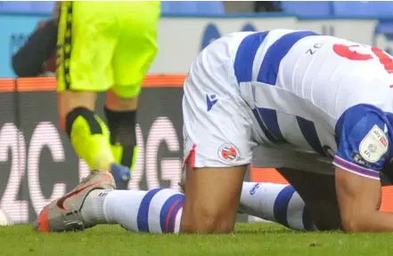
POLYGON ((329 16, 332 15, 332 2, 330 1, 282 1, 285 12, 297 16, 329 16))

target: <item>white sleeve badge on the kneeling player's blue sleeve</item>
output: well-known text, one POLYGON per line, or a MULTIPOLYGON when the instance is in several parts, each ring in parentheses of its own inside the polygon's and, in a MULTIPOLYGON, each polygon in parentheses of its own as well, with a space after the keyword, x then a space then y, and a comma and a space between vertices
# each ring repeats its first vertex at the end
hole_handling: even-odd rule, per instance
POLYGON ((378 125, 374 125, 360 142, 359 153, 365 161, 376 163, 388 151, 388 146, 389 141, 385 132, 378 125))

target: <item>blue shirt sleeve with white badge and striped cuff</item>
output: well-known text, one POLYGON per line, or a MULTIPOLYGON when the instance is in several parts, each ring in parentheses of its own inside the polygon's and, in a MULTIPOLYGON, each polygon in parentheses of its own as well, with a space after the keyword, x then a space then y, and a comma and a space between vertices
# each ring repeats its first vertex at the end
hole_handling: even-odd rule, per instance
POLYGON ((380 180, 390 158, 389 125, 386 114, 372 105, 348 108, 336 124, 338 149, 333 164, 348 172, 380 180))

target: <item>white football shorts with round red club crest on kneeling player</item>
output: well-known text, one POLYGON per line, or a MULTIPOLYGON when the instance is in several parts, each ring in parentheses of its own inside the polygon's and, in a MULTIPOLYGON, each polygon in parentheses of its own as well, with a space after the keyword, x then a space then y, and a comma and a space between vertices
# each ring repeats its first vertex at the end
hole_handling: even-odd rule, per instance
POLYGON ((250 164, 258 126, 242 100, 233 60, 221 37, 192 63, 184 82, 184 164, 229 167, 250 164))

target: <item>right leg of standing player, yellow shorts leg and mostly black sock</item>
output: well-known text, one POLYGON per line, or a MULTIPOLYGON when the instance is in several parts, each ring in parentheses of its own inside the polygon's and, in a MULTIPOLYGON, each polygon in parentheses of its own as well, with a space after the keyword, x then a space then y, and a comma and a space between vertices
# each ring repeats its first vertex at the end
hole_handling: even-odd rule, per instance
POLYGON ((160 1, 118 4, 119 39, 111 58, 114 81, 107 92, 104 111, 115 161, 133 170, 138 151, 136 109, 144 77, 158 51, 160 1))

